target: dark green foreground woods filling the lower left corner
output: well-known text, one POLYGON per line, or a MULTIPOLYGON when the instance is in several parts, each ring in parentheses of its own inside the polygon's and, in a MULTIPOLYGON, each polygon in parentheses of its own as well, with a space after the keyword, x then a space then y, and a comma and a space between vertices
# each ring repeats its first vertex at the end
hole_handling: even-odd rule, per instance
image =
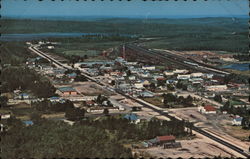
POLYGON ((121 117, 86 119, 70 126, 60 121, 33 118, 34 125, 8 119, 8 131, 2 133, 3 158, 129 158, 125 144, 140 142, 158 135, 183 137, 184 122, 151 119, 140 124, 121 117))

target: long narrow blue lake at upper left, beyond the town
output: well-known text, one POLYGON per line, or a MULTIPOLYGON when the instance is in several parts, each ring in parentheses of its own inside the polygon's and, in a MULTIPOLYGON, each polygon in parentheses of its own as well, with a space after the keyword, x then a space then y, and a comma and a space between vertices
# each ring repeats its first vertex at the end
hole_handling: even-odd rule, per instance
MULTIPOLYGON (((113 36, 114 33, 34 33, 34 34, 2 34, 0 41, 28 41, 39 40, 45 38, 70 38, 70 37, 82 37, 83 35, 102 35, 113 36)), ((119 34, 122 37, 137 37, 136 35, 119 34)))

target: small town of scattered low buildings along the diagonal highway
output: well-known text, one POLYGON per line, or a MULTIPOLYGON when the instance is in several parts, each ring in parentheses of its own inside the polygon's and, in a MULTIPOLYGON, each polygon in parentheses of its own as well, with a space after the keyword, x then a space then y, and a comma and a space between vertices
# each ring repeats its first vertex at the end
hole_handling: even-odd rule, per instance
MULTIPOLYGON (((35 108, 44 112, 41 115, 43 118, 62 120, 70 125, 84 118, 105 116, 119 116, 133 124, 152 120, 171 121, 175 118, 187 124, 184 131, 191 134, 187 140, 189 142, 199 140, 195 137, 196 126, 216 137, 239 144, 248 151, 248 144, 244 140, 248 140, 249 133, 242 133, 244 131, 237 128, 249 127, 249 116, 246 116, 250 110, 249 86, 244 82, 227 81, 225 76, 217 72, 198 72, 178 65, 149 65, 150 62, 146 60, 143 63, 128 61, 125 46, 122 46, 121 56, 114 60, 70 63, 63 57, 43 52, 58 47, 60 44, 56 42, 27 42, 26 45, 34 54, 33 58, 27 59, 27 68, 48 79, 55 88, 55 94, 38 98, 32 92, 16 89, 7 95, 8 105, 12 109, 35 108), (69 104, 72 105, 71 111, 66 108, 69 104)), ((104 53, 107 54, 107 51, 104 53)), ((109 54, 112 54, 112 50, 109 54)), ((225 55, 219 58, 223 60, 225 55)), ((233 57, 226 58, 235 60, 233 57)), ((218 72, 224 73, 222 70, 218 72)), ((32 118, 22 113, 6 111, 1 114, 3 120, 12 116, 20 118, 26 126, 34 124, 32 118)), ((7 131, 8 127, 2 125, 2 129, 7 131)), ((201 150, 206 144, 201 142, 201 150)), ((194 151, 194 148, 186 145, 185 141, 178 141, 175 136, 168 135, 155 136, 131 146, 137 155, 143 153, 141 149, 157 152, 175 149, 184 151, 183 155, 186 155, 187 148, 190 148, 188 151, 194 151), (159 146, 163 149, 159 149, 159 146)), ((223 153, 229 157, 233 155, 230 151, 223 153)), ((176 157, 174 153, 172 156, 176 157)), ((202 154, 197 156, 202 157, 202 154)))

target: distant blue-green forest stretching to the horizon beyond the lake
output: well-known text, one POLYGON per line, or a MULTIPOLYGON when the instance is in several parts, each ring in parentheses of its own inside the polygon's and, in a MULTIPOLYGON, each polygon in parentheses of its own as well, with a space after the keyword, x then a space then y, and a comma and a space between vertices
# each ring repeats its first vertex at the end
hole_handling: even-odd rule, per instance
POLYGON ((80 32, 156 37, 145 45, 175 50, 248 52, 247 18, 101 19, 96 21, 4 19, 2 33, 80 32))

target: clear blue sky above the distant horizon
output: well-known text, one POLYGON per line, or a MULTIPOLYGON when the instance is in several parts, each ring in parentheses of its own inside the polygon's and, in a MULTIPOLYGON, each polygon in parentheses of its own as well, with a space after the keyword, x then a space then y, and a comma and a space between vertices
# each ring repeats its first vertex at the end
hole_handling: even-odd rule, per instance
POLYGON ((248 0, 2 0, 1 15, 31 16, 113 16, 113 17, 223 17, 248 15, 248 0))

